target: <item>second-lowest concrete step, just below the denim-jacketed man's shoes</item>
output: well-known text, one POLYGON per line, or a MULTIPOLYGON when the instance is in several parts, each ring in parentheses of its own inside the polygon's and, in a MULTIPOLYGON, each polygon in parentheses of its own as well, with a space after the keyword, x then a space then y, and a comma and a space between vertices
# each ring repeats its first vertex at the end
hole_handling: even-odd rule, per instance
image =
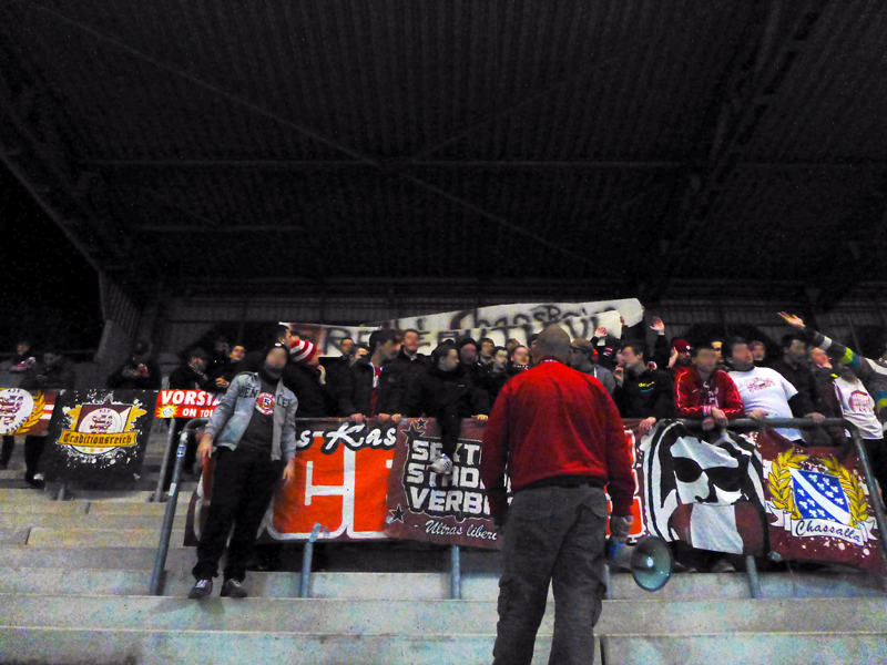
MULTIPOLYGON (((359 601, 0 594, 0 626, 137 631, 265 631, 422 636, 496 632, 495 601, 359 601), (233 605, 231 603, 234 603, 233 605)), ((542 621, 551 634, 553 604, 542 621)), ((663 603, 605 601, 602 635, 881 633, 887 598, 663 603)))

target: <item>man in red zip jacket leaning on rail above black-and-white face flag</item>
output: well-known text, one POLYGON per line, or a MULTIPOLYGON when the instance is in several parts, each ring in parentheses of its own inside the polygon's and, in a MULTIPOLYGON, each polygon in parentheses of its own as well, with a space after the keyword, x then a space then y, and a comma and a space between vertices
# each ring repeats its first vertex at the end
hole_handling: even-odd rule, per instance
POLYGON ((693 366, 674 387, 677 417, 699 418, 707 431, 745 416, 736 383, 727 372, 716 369, 718 356, 714 347, 702 344, 690 352, 693 366))

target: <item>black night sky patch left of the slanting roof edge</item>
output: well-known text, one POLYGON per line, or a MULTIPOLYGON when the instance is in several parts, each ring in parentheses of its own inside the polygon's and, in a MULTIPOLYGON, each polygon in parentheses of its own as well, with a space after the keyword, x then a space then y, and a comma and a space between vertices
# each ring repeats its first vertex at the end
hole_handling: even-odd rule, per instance
POLYGON ((99 279, 40 204, 0 164, 0 354, 20 337, 61 350, 95 349, 99 279))

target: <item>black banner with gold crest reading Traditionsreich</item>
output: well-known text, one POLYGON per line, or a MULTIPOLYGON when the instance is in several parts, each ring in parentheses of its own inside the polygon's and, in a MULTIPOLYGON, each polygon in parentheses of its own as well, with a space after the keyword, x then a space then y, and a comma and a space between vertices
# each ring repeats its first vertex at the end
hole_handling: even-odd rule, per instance
POLYGON ((133 489, 154 419, 154 390, 67 390, 41 466, 48 481, 133 489))

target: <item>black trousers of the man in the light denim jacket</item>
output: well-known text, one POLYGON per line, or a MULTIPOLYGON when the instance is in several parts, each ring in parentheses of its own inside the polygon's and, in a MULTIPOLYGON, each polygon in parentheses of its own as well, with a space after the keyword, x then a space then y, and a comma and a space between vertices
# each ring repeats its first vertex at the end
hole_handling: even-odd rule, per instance
POLYGON ((210 513, 192 573, 197 580, 218 575, 218 561, 233 525, 224 579, 243 582, 256 533, 281 481, 284 463, 273 461, 267 452, 245 448, 220 448, 216 456, 210 513))

